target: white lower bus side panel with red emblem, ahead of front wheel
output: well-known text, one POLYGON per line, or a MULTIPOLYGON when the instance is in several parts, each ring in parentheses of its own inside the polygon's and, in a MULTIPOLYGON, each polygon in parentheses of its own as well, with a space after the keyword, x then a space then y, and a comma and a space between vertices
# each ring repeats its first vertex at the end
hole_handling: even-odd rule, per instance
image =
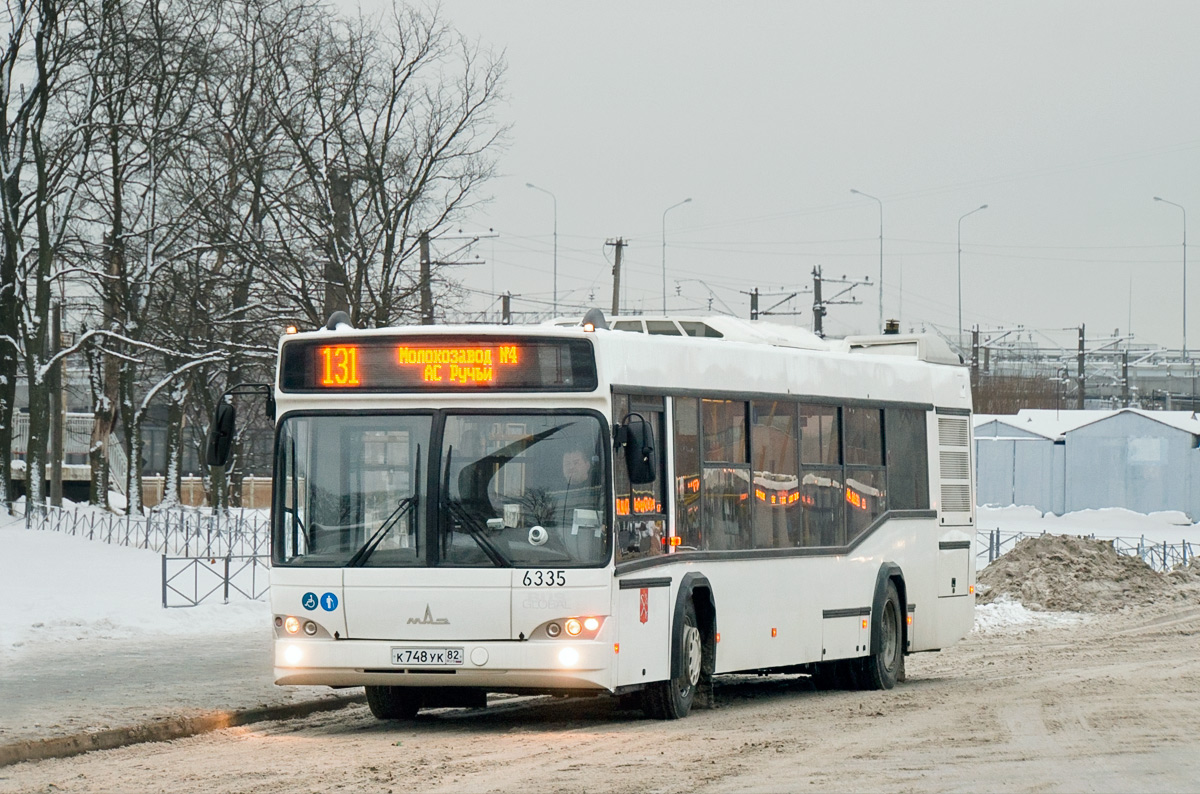
POLYGON ((662 681, 671 667, 671 578, 618 579, 617 686, 662 681))

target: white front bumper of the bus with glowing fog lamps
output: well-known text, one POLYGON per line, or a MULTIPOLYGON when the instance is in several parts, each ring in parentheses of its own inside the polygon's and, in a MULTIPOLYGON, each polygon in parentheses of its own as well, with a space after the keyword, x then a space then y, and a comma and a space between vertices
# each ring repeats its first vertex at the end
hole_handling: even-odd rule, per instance
POLYGON ((374 639, 275 640, 275 682, 317 686, 470 686, 506 690, 608 690, 617 649, 595 640, 404 642, 374 639), (461 650, 461 663, 413 664, 396 651, 461 650))

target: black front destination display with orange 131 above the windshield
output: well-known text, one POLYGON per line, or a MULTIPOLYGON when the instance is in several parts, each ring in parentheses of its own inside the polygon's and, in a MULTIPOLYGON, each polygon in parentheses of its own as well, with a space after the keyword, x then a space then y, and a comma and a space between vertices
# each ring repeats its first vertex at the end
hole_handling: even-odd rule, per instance
POLYGON ((283 391, 592 391, 586 339, 443 336, 283 343, 283 391))

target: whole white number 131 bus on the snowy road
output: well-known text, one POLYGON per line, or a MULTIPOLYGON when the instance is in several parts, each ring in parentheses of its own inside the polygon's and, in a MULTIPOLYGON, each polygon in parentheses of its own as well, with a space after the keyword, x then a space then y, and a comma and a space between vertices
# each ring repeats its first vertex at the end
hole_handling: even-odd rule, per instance
POLYGON ((283 337, 277 684, 365 686, 379 718, 487 692, 678 718, 722 673, 888 688, 971 630, 943 343, 586 320, 283 337))

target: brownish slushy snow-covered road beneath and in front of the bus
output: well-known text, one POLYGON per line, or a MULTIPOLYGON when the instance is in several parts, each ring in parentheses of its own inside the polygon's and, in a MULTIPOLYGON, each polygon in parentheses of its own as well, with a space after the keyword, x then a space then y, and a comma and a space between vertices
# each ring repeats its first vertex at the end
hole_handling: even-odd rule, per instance
POLYGON ((0 769, 10 792, 1194 790, 1200 604, 976 632, 890 692, 733 679, 679 722, 522 699, 365 706, 0 769), (52 788, 53 787, 53 788, 52 788))

